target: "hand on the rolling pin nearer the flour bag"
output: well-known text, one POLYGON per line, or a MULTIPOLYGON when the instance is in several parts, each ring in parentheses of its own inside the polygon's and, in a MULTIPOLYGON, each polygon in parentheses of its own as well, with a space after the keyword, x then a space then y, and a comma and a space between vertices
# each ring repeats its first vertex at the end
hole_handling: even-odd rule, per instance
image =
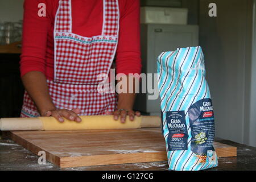
POLYGON ((126 109, 118 109, 113 112, 111 111, 106 111, 107 115, 113 115, 114 120, 118 120, 119 116, 121 117, 121 122, 125 123, 126 117, 129 117, 130 121, 134 121, 135 115, 140 117, 141 112, 139 111, 134 111, 134 110, 126 110, 126 109))

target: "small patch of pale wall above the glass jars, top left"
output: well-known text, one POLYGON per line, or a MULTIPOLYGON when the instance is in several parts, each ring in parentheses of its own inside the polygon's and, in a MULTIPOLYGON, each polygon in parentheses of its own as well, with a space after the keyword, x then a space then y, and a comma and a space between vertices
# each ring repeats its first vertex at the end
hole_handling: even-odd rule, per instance
POLYGON ((24 0, 1 0, 0 22, 17 22, 23 19, 24 0))

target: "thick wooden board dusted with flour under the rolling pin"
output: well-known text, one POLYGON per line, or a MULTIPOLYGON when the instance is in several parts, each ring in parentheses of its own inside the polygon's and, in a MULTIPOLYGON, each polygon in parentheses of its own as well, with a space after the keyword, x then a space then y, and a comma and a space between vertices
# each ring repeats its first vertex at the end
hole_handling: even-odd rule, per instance
MULTIPOLYGON (((160 128, 130 130, 11 131, 9 136, 59 166, 80 167, 167 160, 160 128)), ((236 156, 236 147, 216 145, 217 155, 236 156)))

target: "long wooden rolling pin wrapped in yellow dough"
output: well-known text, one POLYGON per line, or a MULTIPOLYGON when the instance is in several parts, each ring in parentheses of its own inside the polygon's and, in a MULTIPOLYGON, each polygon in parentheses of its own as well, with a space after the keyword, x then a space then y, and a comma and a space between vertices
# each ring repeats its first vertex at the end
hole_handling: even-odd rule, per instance
POLYGON ((126 119, 125 123, 115 121, 113 115, 86 115, 80 116, 82 121, 77 123, 65 119, 63 123, 53 117, 38 118, 1 118, 0 130, 96 130, 96 129, 138 129, 142 127, 160 127, 160 117, 135 117, 134 121, 126 119))

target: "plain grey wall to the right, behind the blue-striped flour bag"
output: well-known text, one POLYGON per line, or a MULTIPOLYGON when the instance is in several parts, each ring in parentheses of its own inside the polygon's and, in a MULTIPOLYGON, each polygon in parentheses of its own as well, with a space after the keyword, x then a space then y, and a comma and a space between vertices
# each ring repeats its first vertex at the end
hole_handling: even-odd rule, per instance
POLYGON ((250 117, 255 113, 250 97, 252 13, 251 0, 201 0, 199 26, 216 135, 256 146, 255 138, 251 138, 255 136, 255 128, 251 129, 255 119, 250 117), (212 2, 217 4, 216 18, 208 16, 212 2))

